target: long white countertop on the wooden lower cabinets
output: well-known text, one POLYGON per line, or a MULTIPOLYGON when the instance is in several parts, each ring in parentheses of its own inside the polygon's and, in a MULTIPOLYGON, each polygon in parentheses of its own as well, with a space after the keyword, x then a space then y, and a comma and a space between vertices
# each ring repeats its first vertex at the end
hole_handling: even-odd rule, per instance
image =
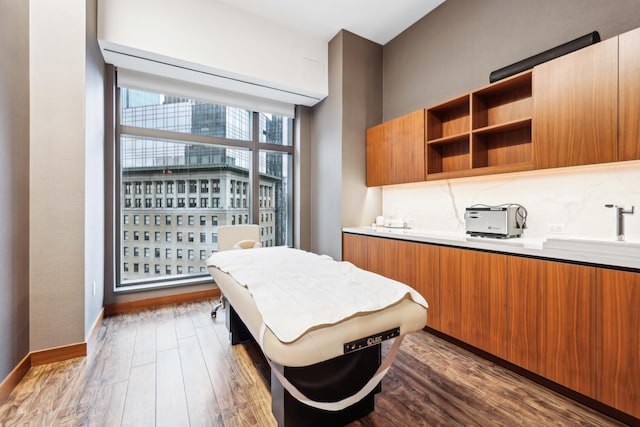
POLYGON ((547 239, 530 239, 526 237, 497 239, 471 237, 460 232, 412 228, 348 227, 344 228, 343 231, 345 233, 374 237, 387 237, 436 245, 640 270, 640 243, 636 242, 606 241, 568 236, 547 239))

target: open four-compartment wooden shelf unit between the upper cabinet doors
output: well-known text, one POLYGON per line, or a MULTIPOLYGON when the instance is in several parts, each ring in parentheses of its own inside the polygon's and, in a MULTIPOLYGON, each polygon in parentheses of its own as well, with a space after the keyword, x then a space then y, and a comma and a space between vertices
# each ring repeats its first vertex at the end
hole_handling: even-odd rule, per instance
POLYGON ((528 70, 425 108, 425 179, 533 169, 532 75, 528 70))

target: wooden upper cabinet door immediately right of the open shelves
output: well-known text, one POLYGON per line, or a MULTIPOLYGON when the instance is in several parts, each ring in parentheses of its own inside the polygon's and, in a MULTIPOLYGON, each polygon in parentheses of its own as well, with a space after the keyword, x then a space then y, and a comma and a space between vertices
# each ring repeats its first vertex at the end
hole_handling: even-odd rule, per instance
POLYGON ((536 168, 617 160, 618 38, 533 70, 536 168))

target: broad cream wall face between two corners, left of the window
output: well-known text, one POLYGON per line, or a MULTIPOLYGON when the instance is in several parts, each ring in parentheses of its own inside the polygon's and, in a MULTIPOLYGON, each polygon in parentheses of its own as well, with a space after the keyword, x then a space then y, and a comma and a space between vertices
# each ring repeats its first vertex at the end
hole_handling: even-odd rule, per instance
POLYGON ((31 351, 84 341, 85 11, 29 3, 31 351))

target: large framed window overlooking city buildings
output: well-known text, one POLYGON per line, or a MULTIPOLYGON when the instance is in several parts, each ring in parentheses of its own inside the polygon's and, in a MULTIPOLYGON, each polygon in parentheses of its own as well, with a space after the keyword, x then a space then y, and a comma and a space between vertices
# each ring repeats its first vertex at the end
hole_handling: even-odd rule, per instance
POLYGON ((208 280, 222 225, 259 224, 263 246, 291 245, 291 118, 118 93, 117 288, 208 280), (151 254, 153 268, 136 268, 151 254))

